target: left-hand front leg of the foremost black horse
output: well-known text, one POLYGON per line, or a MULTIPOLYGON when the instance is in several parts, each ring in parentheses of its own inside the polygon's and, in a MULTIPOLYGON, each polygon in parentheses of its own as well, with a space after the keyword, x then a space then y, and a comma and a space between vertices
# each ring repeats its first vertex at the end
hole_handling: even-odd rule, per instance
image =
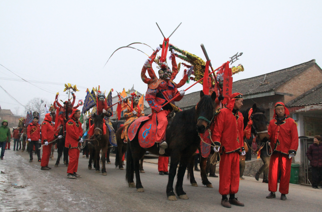
POLYGON ((180 156, 176 152, 176 154, 171 154, 171 160, 170 160, 170 169, 169 169, 169 180, 168 184, 166 186, 166 196, 168 197, 168 200, 175 201, 177 198, 175 197, 175 192, 173 192, 173 181, 175 179, 175 173, 177 171, 178 163, 179 163, 180 156))

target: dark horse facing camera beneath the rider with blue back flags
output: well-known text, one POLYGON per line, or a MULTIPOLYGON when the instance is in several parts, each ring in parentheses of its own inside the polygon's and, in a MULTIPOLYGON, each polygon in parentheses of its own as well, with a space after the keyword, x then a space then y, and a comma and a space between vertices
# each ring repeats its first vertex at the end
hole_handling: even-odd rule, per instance
MULTIPOLYGON (((94 156, 94 165, 95 165, 95 173, 99 173, 99 152, 102 151, 102 175, 106 176, 106 167, 105 167, 105 162, 106 162, 106 152, 108 150, 108 144, 109 144, 109 129, 106 127, 106 134, 103 134, 103 126, 104 126, 104 114, 102 115, 96 115, 93 114, 93 122, 94 122, 94 138, 95 140, 92 141, 92 146, 94 146, 95 152, 92 152, 90 150, 90 163, 89 163, 89 169, 91 167, 91 158, 94 156)), ((90 148, 91 149, 91 148, 90 148)))

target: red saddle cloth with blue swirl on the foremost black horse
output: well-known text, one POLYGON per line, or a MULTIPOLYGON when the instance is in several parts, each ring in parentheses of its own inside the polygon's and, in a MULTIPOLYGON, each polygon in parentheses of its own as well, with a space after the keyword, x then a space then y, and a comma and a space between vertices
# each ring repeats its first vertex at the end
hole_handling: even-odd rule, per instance
POLYGON ((156 113, 149 116, 142 116, 136 119, 128 128, 128 139, 132 141, 137 134, 138 128, 144 122, 138 132, 139 144, 143 148, 149 148, 154 145, 156 138, 156 113))

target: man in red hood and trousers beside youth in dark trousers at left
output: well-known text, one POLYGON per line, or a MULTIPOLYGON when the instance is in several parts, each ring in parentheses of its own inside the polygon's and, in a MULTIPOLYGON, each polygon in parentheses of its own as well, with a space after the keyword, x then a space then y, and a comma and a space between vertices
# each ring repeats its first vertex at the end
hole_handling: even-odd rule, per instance
MULTIPOLYGON (((52 114, 47 113, 45 115, 45 119, 41 125, 42 131, 42 144, 43 144, 43 155, 41 159, 41 170, 50 170, 52 168, 48 167, 50 154, 52 151, 52 141, 57 138, 55 136, 54 125, 52 124, 52 114)), ((62 138, 62 136, 58 136, 58 138, 62 138)))

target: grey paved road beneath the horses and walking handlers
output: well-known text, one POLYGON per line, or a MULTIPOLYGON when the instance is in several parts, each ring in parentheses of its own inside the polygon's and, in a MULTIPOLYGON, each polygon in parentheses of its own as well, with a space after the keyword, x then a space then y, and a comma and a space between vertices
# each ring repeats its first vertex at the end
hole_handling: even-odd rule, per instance
POLYGON ((245 207, 223 208, 219 179, 210 178, 214 188, 206 188, 199 172, 199 187, 184 181, 188 200, 168 201, 167 176, 158 174, 156 164, 143 163, 145 192, 138 193, 127 186, 125 171, 115 169, 114 160, 111 157, 108 175, 102 176, 88 170, 88 159, 81 157, 77 173, 82 178, 74 180, 66 178, 66 166, 54 168, 55 161, 49 162, 52 170, 42 171, 39 162, 29 163, 28 153, 5 151, 5 160, 0 161, 0 171, 5 172, 0 174, 0 211, 322 211, 322 189, 291 184, 287 201, 266 199, 268 185, 249 177, 241 180, 236 195, 245 207))

